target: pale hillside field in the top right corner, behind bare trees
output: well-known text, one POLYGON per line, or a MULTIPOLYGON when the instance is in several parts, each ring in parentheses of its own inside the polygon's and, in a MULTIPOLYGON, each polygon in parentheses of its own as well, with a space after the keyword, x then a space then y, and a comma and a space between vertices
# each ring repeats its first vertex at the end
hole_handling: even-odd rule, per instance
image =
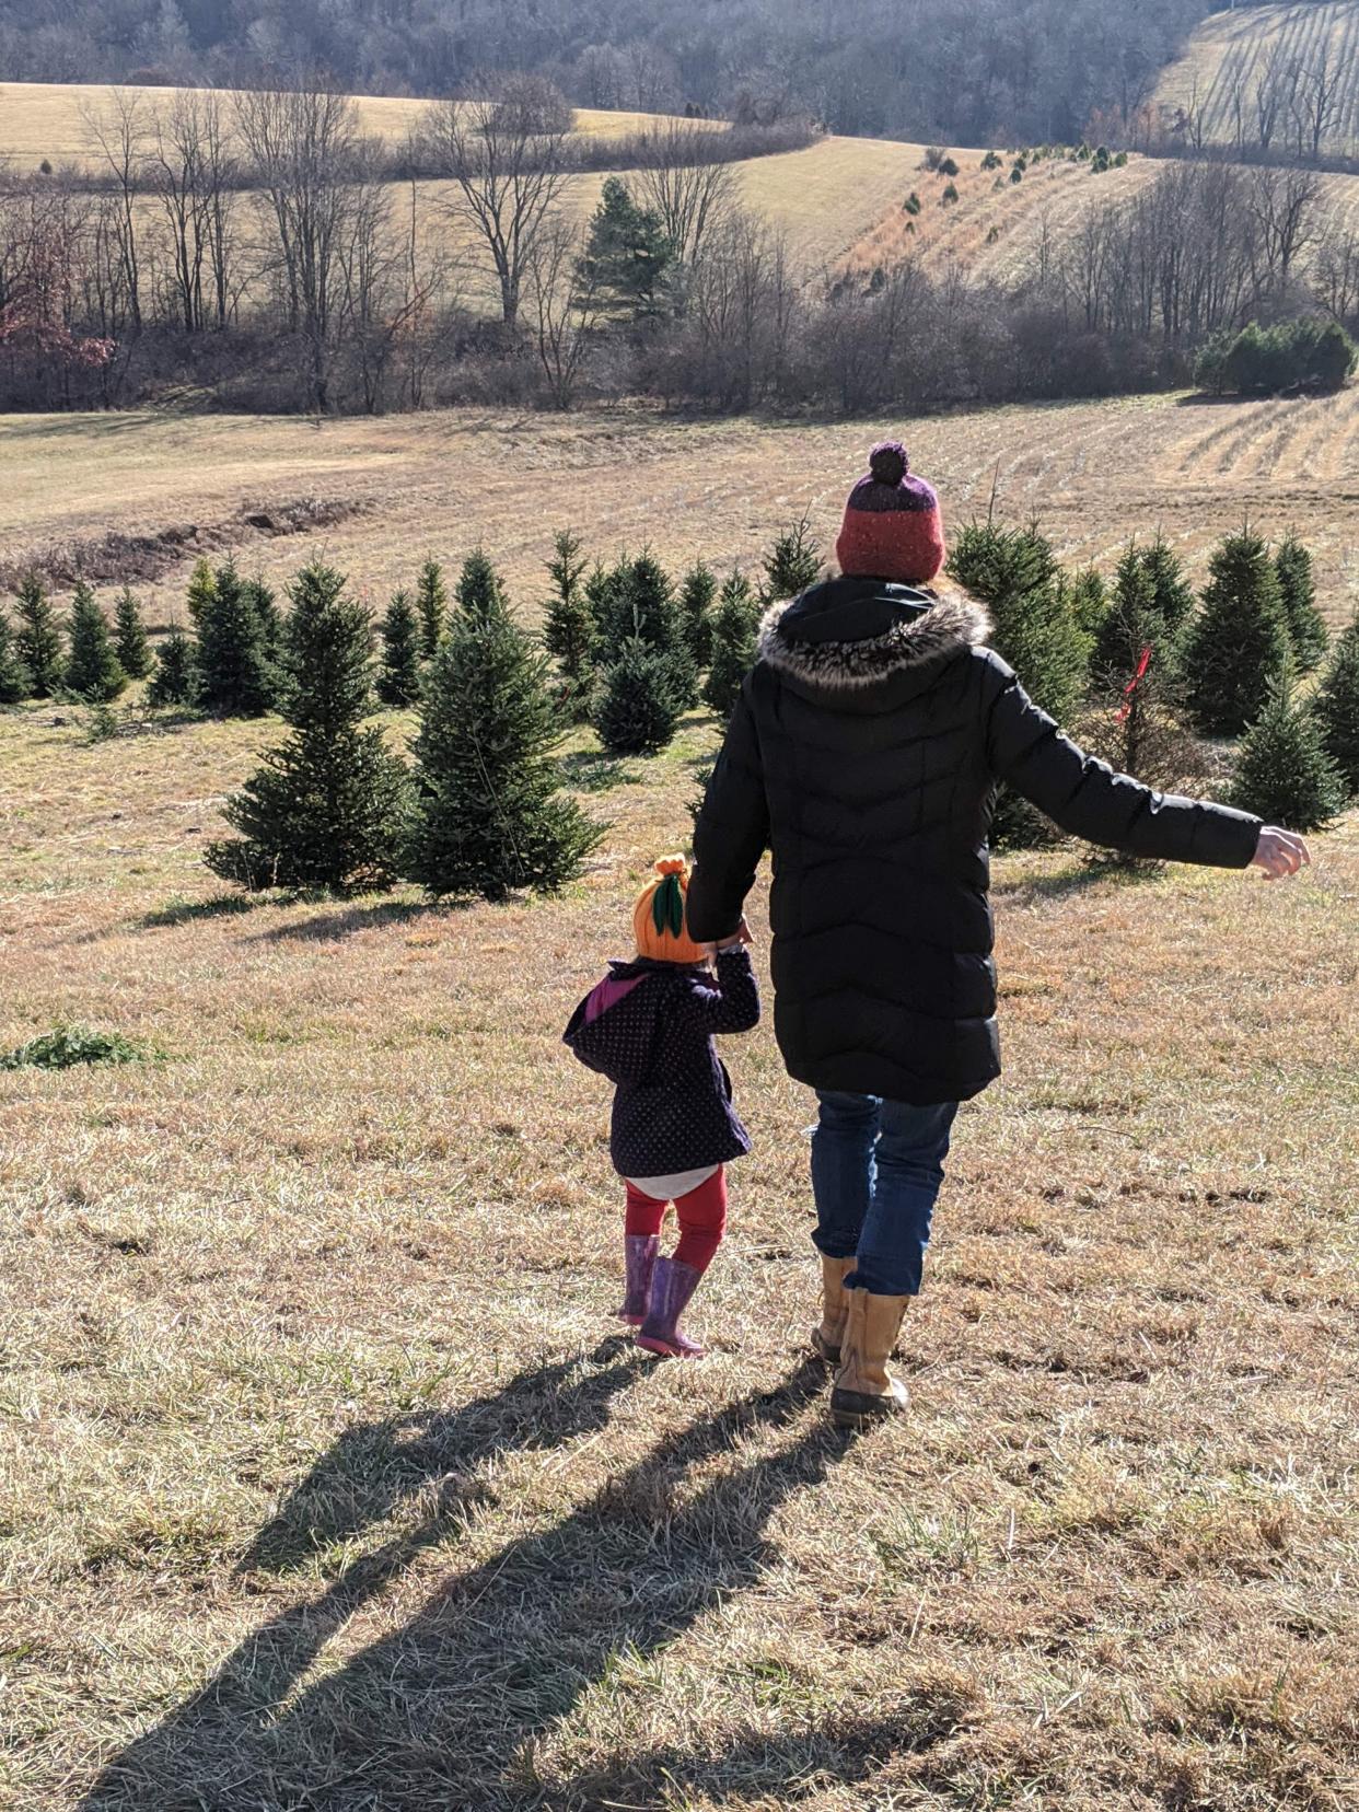
POLYGON ((1354 154, 1359 150, 1359 0, 1214 13, 1189 40, 1185 56, 1161 76, 1156 103, 1169 112, 1196 103, 1207 138, 1230 145, 1236 140, 1234 94, 1239 82, 1248 92, 1274 53, 1281 53, 1287 65, 1306 69, 1323 47, 1330 49, 1332 65, 1339 71, 1335 114, 1323 150, 1354 154))

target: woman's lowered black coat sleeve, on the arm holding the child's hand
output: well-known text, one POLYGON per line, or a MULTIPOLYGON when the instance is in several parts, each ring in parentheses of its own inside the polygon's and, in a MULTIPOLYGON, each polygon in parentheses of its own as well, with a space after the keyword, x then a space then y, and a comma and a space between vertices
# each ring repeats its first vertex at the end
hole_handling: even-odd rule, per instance
POLYGON ((747 680, 694 826, 687 922, 698 944, 716 944, 736 931, 768 846, 765 768, 748 687, 747 680))

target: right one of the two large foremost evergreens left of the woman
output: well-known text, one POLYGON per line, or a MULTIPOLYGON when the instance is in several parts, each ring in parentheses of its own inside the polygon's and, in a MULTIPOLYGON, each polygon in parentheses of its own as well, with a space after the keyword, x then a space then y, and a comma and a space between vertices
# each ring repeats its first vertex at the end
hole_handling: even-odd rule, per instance
POLYGON ((562 794, 547 656, 504 603, 462 609, 426 672, 408 873, 431 893, 551 893, 598 826, 562 794))

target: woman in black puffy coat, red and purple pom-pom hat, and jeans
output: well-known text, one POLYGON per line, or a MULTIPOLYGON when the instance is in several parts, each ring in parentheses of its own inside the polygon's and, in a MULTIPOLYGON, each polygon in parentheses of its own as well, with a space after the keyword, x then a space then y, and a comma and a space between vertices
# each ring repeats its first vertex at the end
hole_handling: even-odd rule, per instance
MULTIPOLYGON (((725 939, 763 852, 774 853, 774 1027, 788 1073, 821 1100, 814 1346, 837 1366, 832 1410, 844 1424, 906 1404, 886 1361, 920 1288, 949 1127, 957 1104, 1000 1073, 988 902, 997 783, 1062 830, 1132 855, 1256 863, 1270 879, 1306 861, 1288 832, 1152 792, 1084 754, 986 647, 978 603, 895 582, 922 536, 893 516, 922 506, 873 493, 919 498, 922 487, 904 453, 897 484, 884 482, 881 453, 850 509, 868 491, 859 511, 882 520, 855 522, 850 536, 846 511, 839 542, 841 562, 848 551, 872 560, 872 576, 814 585, 765 618, 689 890, 690 937, 725 939)), ((930 504, 937 511, 933 493, 930 504)))

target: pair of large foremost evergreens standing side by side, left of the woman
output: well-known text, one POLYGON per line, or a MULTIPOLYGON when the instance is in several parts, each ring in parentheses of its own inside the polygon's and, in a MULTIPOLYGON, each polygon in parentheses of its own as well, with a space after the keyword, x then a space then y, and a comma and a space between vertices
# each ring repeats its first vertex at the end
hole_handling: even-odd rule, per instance
MULTIPOLYGON (((234 835, 208 844, 214 873, 245 888, 341 893, 404 877, 435 895, 487 899, 580 873, 600 830, 562 788, 547 656, 515 623, 484 554, 466 562, 451 603, 429 565, 422 587, 431 612, 439 603, 439 631, 417 689, 399 699, 419 703, 410 761, 368 721, 375 690, 393 703, 393 669, 384 661, 375 687, 366 605, 319 562, 288 587, 275 667, 290 734, 228 799, 234 835)), ((433 614, 411 620, 419 661, 433 614)))

